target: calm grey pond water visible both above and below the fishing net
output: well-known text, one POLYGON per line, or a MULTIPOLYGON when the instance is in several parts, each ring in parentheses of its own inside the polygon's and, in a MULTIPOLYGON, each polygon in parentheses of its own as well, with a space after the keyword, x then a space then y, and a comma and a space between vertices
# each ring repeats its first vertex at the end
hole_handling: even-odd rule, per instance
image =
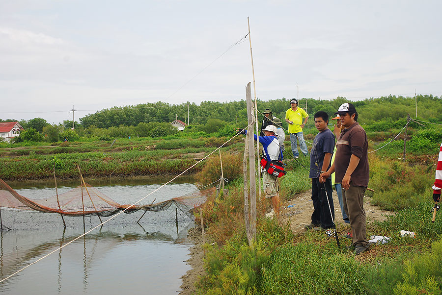
MULTIPOLYGON (((86 182, 120 203, 135 202, 162 185, 158 179, 150 178, 86 182)), ((8 184, 29 198, 55 195, 51 182, 8 184)), ((60 181, 57 184, 59 193, 78 185, 60 181)), ((192 179, 181 179, 146 198, 146 203, 195 190, 192 179)), ((140 224, 104 224, 0 283, 0 294, 176 294, 180 291, 180 277, 190 269, 184 261, 191 246, 187 234, 193 221, 159 222, 156 213, 147 212, 140 224)), ((51 224, 46 229, 3 232, 0 278, 81 234, 83 227, 63 229, 51 224)))

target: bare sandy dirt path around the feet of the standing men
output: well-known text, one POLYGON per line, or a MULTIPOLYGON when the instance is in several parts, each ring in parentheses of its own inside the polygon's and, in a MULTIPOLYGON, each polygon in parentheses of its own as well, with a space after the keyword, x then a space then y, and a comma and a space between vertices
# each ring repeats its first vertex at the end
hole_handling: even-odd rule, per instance
MULTIPOLYGON (((370 202, 370 197, 364 197, 364 210, 368 223, 375 220, 384 221, 387 219, 387 215, 394 214, 390 211, 381 210, 379 207, 371 205, 370 202)), ((333 191, 333 204, 336 224, 345 224, 342 220, 341 207, 339 206, 336 191, 333 191)), ((313 213, 311 191, 296 194, 287 202, 283 213, 284 220, 289 219, 290 227, 295 234, 304 232, 304 226, 311 222, 311 214, 313 213), (290 208, 287 208, 287 206, 290 206, 290 208)))

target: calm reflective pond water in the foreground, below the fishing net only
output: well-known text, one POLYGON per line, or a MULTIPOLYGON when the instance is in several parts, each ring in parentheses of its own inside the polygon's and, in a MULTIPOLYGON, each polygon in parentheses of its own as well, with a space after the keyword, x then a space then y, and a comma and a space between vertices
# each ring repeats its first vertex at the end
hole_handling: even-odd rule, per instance
MULTIPOLYGON (((189 267, 189 225, 102 228, 0 284, 0 294, 170 294, 189 267), (147 292, 148 290, 148 292, 147 292)), ((0 238, 0 277, 23 268, 82 231, 8 231, 0 238)))

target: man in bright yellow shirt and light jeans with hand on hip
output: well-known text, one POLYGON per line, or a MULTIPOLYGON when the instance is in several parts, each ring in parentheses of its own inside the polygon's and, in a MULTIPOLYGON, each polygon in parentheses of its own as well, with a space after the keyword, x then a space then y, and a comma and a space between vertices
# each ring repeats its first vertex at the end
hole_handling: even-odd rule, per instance
POLYGON ((285 122, 289 124, 290 142, 292 145, 293 157, 299 158, 297 139, 299 140, 299 147, 301 148, 304 156, 308 156, 307 145, 304 141, 303 128, 307 123, 308 115, 304 109, 298 107, 298 99, 292 98, 290 100, 290 106, 285 112, 285 122), (304 122, 303 122, 304 120, 304 122))

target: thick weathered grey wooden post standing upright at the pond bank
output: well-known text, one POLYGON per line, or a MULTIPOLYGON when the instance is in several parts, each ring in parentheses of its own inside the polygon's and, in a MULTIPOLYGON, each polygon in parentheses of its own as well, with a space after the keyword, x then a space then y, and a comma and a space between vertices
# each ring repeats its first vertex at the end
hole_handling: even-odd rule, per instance
MULTIPOLYGON (((247 84, 247 119, 249 122, 249 128, 247 131, 246 142, 249 144, 249 180, 250 180, 250 236, 249 246, 253 245, 253 241, 256 239, 256 166, 255 166, 255 153, 251 152, 254 149, 253 145, 253 125, 255 118, 251 112, 252 100, 250 91, 250 82, 247 84)), ((259 173, 258 173, 259 174, 259 173)), ((248 218, 246 216, 246 218, 248 218)))

